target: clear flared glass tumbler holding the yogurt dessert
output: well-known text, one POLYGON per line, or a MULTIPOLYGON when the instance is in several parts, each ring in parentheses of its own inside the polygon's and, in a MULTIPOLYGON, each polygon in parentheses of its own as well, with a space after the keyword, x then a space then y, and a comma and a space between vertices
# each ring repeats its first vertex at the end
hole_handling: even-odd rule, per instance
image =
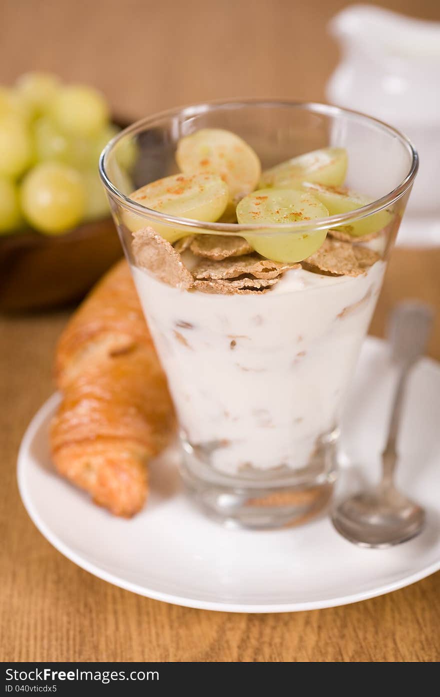
POLYGON ((182 480, 211 516, 273 528, 303 521, 328 502, 340 411, 417 167, 414 148, 390 126, 287 101, 174 109, 134 123, 104 149, 100 174, 178 414, 182 480), (243 225, 173 217, 132 200, 137 188, 178 172, 179 139, 201 128, 239 135, 263 169, 317 148, 346 148, 347 185, 372 203, 320 220, 243 225), (382 229, 352 245, 375 255, 364 273, 301 269, 268 292, 234 295, 170 282, 169 248, 146 267, 129 224, 269 241, 330 229, 337 240, 372 216, 382 229))

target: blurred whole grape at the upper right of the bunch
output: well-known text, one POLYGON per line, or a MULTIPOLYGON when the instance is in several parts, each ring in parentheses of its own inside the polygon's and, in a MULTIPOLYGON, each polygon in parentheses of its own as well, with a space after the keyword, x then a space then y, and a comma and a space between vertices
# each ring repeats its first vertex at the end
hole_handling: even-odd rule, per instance
POLYGON ((80 137, 96 135, 109 118, 109 107, 100 92, 86 85, 62 87, 50 105, 58 128, 80 137))

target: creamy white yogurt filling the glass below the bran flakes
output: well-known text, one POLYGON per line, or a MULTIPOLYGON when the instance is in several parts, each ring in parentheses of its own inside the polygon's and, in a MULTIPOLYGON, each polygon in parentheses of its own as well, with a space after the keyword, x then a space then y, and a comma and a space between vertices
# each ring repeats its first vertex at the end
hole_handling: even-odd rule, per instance
POLYGON ((180 291, 132 268, 182 429, 212 466, 303 468, 338 422, 385 263, 286 273, 262 295, 180 291))

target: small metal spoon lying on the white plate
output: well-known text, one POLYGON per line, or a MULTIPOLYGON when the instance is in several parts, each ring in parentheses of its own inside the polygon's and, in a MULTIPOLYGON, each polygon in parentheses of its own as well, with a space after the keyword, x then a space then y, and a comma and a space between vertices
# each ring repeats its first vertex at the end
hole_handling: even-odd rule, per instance
POLYGON ((425 524, 425 511, 395 489, 393 474, 398 462, 396 441, 407 377, 425 352, 433 317, 432 309, 418 302, 402 302, 391 316, 389 342, 400 375, 388 441, 382 452, 382 481, 373 491, 347 498, 331 514, 338 533, 363 547, 384 548, 406 542, 421 533, 425 524))

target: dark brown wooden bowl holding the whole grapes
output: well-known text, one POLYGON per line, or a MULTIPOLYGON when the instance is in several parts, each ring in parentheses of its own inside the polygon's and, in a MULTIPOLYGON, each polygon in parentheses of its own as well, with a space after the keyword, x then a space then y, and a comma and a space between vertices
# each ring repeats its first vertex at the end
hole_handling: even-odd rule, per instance
POLYGON ((111 217, 65 235, 34 231, 0 238, 0 312, 60 307, 82 298, 122 256, 111 217))

